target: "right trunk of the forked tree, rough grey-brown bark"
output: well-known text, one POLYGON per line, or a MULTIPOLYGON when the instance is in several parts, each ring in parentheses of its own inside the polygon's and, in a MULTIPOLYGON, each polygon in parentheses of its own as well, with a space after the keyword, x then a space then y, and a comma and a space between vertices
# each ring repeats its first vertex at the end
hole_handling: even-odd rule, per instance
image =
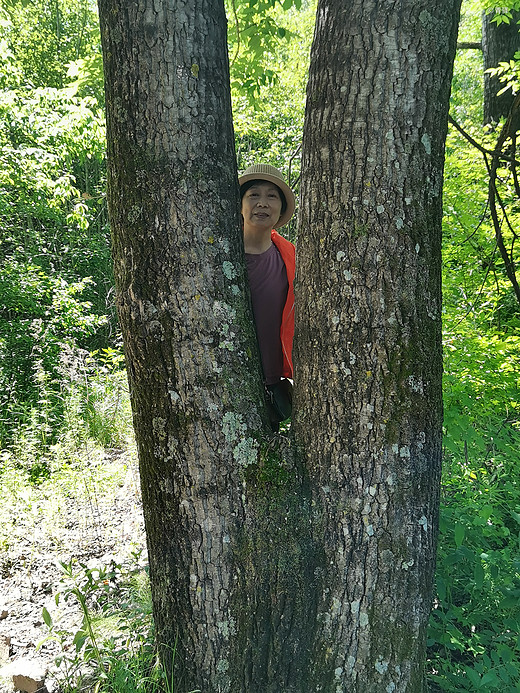
POLYGON ((295 420, 323 547, 310 691, 425 690, 441 467, 441 196, 459 0, 320 0, 295 420))

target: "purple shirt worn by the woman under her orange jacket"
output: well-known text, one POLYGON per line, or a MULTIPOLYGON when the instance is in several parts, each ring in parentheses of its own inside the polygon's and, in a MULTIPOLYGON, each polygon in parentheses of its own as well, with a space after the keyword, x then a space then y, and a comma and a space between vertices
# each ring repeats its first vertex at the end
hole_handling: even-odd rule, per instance
POLYGON ((280 326, 289 282, 282 256, 272 245, 264 253, 246 253, 249 288, 266 385, 282 377, 280 326))

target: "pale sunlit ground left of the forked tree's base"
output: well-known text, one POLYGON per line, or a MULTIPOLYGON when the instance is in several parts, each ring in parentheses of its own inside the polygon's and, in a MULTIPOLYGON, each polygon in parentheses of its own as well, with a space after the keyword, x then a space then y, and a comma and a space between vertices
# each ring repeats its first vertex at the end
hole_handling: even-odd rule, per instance
POLYGON ((50 479, 31 485, 12 457, 0 459, 0 693, 33 693, 43 682, 57 690, 62 645, 40 644, 49 634, 43 609, 67 633, 81 623, 76 600, 56 604, 60 562, 78 570, 146 562, 135 460, 86 451, 80 463, 55 466, 50 479))

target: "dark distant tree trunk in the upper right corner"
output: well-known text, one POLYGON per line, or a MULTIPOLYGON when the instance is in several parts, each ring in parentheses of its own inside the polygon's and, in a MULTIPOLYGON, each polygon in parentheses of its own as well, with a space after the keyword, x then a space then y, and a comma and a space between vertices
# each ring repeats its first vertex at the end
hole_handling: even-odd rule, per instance
MULTIPOLYGON (((493 22, 494 12, 482 15, 482 51, 484 56, 484 125, 498 123, 500 118, 507 118, 515 95, 511 89, 502 94, 504 87, 498 77, 486 72, 491 67, 498 67, 501 62, 508 63, 515 53, 520 51, 520 33, 518 22, 520 12, 513 11, 510 24, 493 22)), ((518 129, 518 115, 515 118, 514 131, 518 129)))

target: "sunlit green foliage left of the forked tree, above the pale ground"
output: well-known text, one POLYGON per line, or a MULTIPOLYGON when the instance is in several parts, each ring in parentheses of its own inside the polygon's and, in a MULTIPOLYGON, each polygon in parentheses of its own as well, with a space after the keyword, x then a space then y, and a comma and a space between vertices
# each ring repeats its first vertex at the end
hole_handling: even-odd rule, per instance
POLYGON ((56 441, 70 362, 113 331, 99 44, 92 0, 0 10, 2 445, 56 441))

